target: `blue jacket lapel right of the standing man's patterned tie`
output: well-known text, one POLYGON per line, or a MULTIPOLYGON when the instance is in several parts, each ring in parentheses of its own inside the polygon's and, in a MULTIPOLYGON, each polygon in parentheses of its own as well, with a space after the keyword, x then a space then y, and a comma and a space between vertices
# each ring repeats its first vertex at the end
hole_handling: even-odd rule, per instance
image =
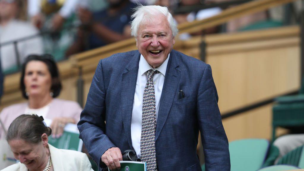
POLYGON ((181 62, 179 58, 180 57, 176 55, 175 51, 172 50, 168 61, 163 90, 161 92, 161 100, 156 124, 155 141, 161 133, 161 129, 164 127, 174 96, 176 94, 175 92, 181 75, 180 71, 178 70, 178 66, 181 62))

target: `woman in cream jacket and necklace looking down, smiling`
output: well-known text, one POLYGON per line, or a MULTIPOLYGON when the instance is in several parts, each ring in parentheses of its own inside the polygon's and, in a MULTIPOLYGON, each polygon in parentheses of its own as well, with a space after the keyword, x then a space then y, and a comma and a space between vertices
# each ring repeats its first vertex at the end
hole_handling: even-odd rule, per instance
POLYGON ((22 114, 9 126, 6 140, 19 163, 2 171, 93 171, 85 153, 48 144, 52 130, 43 117, 22 114))

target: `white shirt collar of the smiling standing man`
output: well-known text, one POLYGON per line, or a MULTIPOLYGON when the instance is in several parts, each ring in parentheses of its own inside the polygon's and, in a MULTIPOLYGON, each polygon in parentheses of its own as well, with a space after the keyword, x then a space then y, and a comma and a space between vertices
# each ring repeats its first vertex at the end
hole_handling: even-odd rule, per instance
POLYGON ((160 73, 162 73, 165 76, 166 71, 167 71, 167 65, 168 65, 169 57, 170 57, 170 54, 168 54, 168 58, 164 61, 163 64, 161 64, 161 66, 153 69, 149 65, 149 63, 146 61, 146 59, 143 57, 143 55, 140 54, 140 60, 139 60, 140 75, 143 75, 148 70, 153 69, 153 70, 159 71, 160 73))

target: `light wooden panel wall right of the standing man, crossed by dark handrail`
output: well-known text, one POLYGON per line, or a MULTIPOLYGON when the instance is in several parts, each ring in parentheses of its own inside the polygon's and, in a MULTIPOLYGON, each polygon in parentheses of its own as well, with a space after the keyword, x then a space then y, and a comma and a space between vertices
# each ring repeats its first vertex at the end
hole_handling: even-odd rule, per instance
MULTIPOLYGON (((264 33, 268 32, 269 36, 271 30, 268 31, 264 33)), ((281 28, 281 31, 277 36, 266 39, 231 43, 227 40, 227 43, 215 43, 207 48, 206 62, 212 66, 222 113, 299 89, 298 30, 294 27, 287 30, 281 28), (289 34, 291 30, 294 34, 289 34)), ((223 120, 223 125, 229 141, 270 139, 271 121, 272 104, 227 118, 223 120)))

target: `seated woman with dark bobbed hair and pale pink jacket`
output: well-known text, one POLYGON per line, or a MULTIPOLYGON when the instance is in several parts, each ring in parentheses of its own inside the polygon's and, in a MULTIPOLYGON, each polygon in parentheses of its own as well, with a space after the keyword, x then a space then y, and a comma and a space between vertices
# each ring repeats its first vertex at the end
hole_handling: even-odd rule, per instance
POLYGON ((52 120, 53 137, 60 137, 67 123, 76 124, 82 111, 78 103, 56 99, 61 83, 57 65, 51 55, 30 55, 22 65, 20 89, 26 103, 8 106, 0 113, 5 129, 0 127, 0 138, 9 124, 21 114, 37 114, 52 120))

